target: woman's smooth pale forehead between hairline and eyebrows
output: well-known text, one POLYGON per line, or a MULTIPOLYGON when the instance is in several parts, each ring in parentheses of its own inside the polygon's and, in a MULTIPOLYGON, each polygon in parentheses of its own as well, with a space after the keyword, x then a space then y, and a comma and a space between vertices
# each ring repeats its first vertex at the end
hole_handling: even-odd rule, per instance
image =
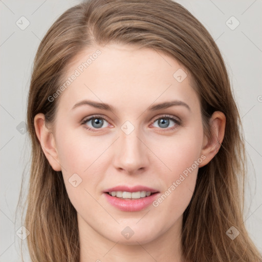
POLYGON ((83 99, 117 102, 121 109, 168 99, 196 106, 199 102, 189 72, 176 59, 154 49, 128 45, 83 50, 68 64, 65 82, 68 85, 64 85, 59 104, 68 110, 83 99))

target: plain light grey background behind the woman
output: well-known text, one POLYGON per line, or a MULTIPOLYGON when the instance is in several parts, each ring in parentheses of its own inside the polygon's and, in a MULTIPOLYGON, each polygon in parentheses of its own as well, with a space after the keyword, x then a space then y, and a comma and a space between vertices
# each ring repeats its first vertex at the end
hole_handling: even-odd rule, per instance
MULTIPOLYGON (((262 253, 262 1, 178 2, 204 24, 225 59, 243 121, 249 156, 245 224, 262 253), (232 27, 237 25, 237 20, 231 16, 240 23, 234 30, 232 27)), ((21 261, 16 231, 22 225, 19 221, 15 222, 15 208, 21 175, 24 170, 29 174, 30 144, 23 128, 33 59, 40 40, 54 21, 78 3, 80 1, 76 0, 0 0, 1 262, 21 261), (16 25, 16 21, 20 26, 26 25, 25 18, 21 16, 30 22, 24 30, 16 25), (23 25, 21 19, 24 19, 23 25)), ((30 261, 28 256, 25 261, 30 261)))

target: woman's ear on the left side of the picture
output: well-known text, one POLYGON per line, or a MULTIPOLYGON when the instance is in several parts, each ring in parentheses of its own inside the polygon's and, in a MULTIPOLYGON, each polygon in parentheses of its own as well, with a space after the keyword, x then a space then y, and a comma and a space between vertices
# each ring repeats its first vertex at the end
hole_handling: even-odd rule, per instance
POLYGON ((61 171, 55 139, 50 129, 46 127, 44 114, 39 113, 34 117, 34 126, 36 136, 41 144, 46 158, 48 159, 49 164, 55 171, 61 171))

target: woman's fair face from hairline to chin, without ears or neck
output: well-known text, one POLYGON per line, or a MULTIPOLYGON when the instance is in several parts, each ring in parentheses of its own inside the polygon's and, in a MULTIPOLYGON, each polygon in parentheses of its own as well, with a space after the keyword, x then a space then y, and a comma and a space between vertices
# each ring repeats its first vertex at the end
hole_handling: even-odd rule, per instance
POLYGON ((79 54, 69 77, 53 134, 79 231, 144 244, 181 227, 205 159, 189 73, 161 52, 111 44, 79 54))

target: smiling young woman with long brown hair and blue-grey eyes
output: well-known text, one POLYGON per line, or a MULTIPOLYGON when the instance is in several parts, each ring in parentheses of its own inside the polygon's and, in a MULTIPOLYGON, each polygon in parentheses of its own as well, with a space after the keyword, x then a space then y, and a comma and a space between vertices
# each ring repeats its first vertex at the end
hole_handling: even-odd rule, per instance
POLYGON ((261 261, 221 53, 169 0, 91 0, 38 48, 28 97, 32 261, 261 261))

